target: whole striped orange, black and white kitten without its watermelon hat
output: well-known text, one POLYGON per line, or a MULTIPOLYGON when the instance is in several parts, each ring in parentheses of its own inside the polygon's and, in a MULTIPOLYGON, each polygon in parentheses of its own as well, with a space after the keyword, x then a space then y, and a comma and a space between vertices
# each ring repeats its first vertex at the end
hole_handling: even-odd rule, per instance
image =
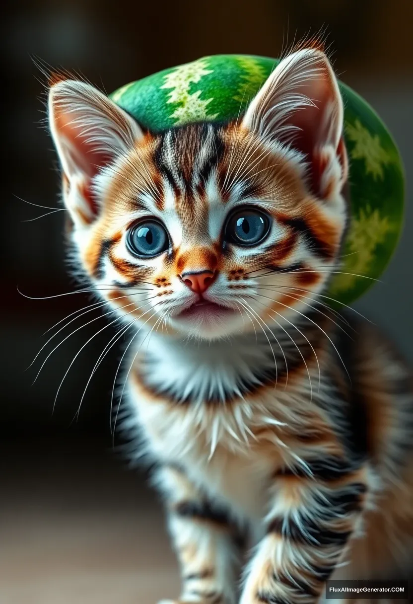
POLYGON ((156 462, 173 602, 316 602, 331 576, 406 571, 409 371, 325 304, 348 220, 325 54, 284 58, 230 123, 144 132, 69 78, 49 117, 78 263, 132 336, 122 405, 156 462))

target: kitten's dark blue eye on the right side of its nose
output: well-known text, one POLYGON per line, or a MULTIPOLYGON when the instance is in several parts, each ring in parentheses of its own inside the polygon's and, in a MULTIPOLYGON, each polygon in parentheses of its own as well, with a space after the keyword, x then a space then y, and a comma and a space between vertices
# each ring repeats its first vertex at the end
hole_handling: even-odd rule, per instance
POLYGON ((270 230, 267 214, 260 210, 238 210, 229 217, 225 229, 226 240, 236 245, 257 245, 270 230))

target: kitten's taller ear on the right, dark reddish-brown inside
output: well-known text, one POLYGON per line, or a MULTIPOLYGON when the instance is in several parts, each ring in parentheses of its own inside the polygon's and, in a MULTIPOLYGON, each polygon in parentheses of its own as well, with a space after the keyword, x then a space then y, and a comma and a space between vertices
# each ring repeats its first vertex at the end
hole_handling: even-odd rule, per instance
POLYGON ((328 200, 347 180, 343 115, 327 56, 307 48, 281 60, 249 105, 243 126, 303 159, 312 192, 328 200))

